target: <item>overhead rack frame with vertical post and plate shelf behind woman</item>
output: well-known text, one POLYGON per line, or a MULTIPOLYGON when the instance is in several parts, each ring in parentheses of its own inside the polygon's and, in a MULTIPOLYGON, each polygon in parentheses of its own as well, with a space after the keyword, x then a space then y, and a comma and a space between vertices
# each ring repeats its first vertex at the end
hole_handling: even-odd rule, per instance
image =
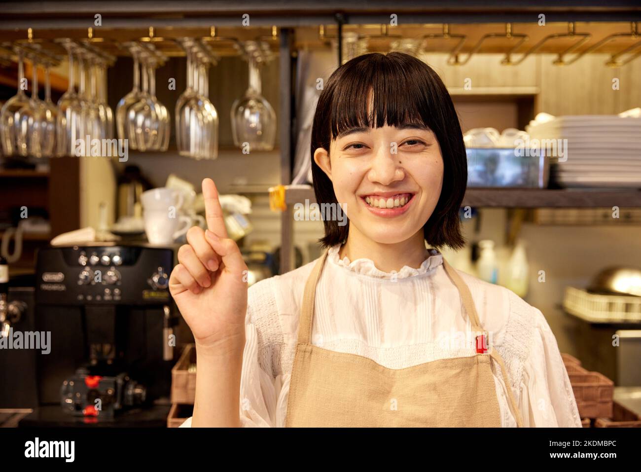
MULTIPOLYGON (((420 35, 425 31, 439 33, 444 24, 449 24, 449 32, 464 33, 469 40, 460 49, 467 55, 473 45, 489 32, 501 30, 501 25, 510 24, 510 31, 526 33, 530 37, 529 46, 538 44, 550 31, 564 33, 571 23, 577 22, 577 33, 583 32, 583 23, 589 22, 593 40, 574 53, 585 51, 591 45, 608 35, 624 30, 631 22, 641 21, 641 8, 636 1, 610 1, 606 6, 596 1, 539 0, 515 1, 471 1, 453 4, 445 0, 410 1, 336 1, 319 3, 314 0, 294 0, 287 3, 274 0, 245 1, 13 1, 3 4, 0 18, 0 42, 26 38, 56 37, 87 38, 88 28, 92 28, 93 40, 103 40, 98 46, 106 47, 112 53, 115 42, 132 38, 149 37, 163 53, 172 56, 178 51, 163 49, 158 38, 169 37, 207 37, 213 35, 234 36, 240 40, 254 38, 256 34, 269 37, 272 34, 272 47, 278 52, 279 69, 279 153, 280 181, 287 185, 292 180, 293 150, 295 149, 296 106, 294 106, 294 75, 296 73, 296 49, 298 47, 326 47, 330 38, 340 44, 344 32, 376 34, 379 25, 390 24, 390 15, 397 15, 399 26, 387 28, 394 34, 420 35), (101 26, 94 25, 95 15, 101 15, 101 26), (539 28, 538 15, 545 14, 550 30, 539 28), (244 15, 251 26, 242 26, 244 15), (579 22, 581 24, 579 24, 579 22), (319 28, 323 27, 322 35, 319 28), (623 28, 622 28, 623 27, 623 28), (274 30, 276 28, 276 30, 274 30), (372 29, 373 28, 373 29, 372 29), (276 32, 276 35, 274 35, 276 32)), ((386 29, 386 31, 387 31, 386 29)), ((451 46, 450 46, 451 48, 451 46)), ((539 53, 563 53, 567 45, 561 47, 554 41, 545 43, 539 53)), ((615 54, 622 48, 615 44, 605 44, 599 52, 615 54)), ((342 48, 338 47, 338 62, 342 58, 342 48)), ((506 52, 501 49, 484 49, 486 52, 506 52)), ((517 60, 519 53, 513 53, 517 60)), ((510 66, 505 66, 510 67, 510 66)), ((526 95, 537 93, 535 87, 508 90, 474 90, 495 95, 526 95)), ((462 94, 462 90, 455 90, 462 94)), ((253 190, 255 192, 258 190, 253 190)), ((285 190, 287 209, 281 212, 281 273, 293 268, 293 214, 292 203, 313 201, 311 187, 307 189, 285 190)), ((641 207, 641 192, 633 190, 547 190, 547 189, 469 189, 463 205, 474 207, 537 208, 537 207, 641 207)))

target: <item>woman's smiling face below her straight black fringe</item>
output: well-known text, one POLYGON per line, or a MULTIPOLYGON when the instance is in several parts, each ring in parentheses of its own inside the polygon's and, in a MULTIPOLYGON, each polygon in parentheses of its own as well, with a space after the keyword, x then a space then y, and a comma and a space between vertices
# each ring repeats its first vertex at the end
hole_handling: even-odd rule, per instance
POLYGON ((419 124, 353 128, 315 162, 333 183, 350 227, 381 244, 410 239, 428 221, 443 185, 443 157, 434 133, 419 124))

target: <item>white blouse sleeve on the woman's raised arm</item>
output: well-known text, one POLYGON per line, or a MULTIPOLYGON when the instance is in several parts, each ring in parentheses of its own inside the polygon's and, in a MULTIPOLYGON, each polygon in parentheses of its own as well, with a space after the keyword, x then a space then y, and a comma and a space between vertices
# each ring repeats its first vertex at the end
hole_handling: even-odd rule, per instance
MULTIPOLYGON (((281 390, 272 375, 272 362, 260 349, 262 339, 256 320, 270 317, 275 307, 269 279, 252 285, 247 293, 245 318, 245 348, 240 376, 240 423, 243 427, 276 426, 276 406, 281 390)), ((192 417, 180 427, 190 428, 192 417)))

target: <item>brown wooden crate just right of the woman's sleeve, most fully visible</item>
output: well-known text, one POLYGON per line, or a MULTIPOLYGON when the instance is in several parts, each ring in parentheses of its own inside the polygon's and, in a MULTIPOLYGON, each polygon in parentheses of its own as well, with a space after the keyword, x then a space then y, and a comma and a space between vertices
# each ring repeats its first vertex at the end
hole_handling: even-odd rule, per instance
POLYGON ((612 417, 614 382, 599 372, 568 373, 579 416, 612 417))

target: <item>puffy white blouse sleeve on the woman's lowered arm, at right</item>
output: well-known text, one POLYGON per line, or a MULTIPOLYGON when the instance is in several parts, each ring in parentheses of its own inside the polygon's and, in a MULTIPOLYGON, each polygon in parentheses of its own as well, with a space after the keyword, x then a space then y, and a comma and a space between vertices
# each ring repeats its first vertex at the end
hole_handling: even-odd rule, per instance
POLYGON ((523 364, 519 410, 524 426, 581 427, 563 359, 543 314, 533 309, 535 330, 523 364))

